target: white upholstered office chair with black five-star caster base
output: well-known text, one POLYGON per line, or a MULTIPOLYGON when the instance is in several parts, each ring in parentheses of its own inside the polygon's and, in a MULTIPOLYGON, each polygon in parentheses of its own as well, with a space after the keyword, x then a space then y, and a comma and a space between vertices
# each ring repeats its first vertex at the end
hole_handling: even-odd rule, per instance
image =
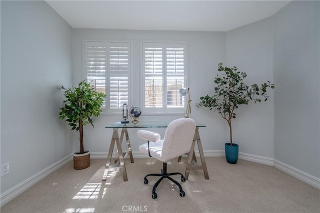
POLYGON ((180 196, 185 195, 185 192, 182 190, 180 183, 170 177, 170 175, 180 174, 182 182, 185 181, 185 177, 179 172, 167 173, 166 161, 190 151, 194 132, 195 122, 191 118, 179 118, 171 121, 165 131, 164 138, 162 140, 160 140, 160 135, 158 133, 147 130, 138 130, 138 137, 147 140, 147 143, 139 146, 139 150, 141 152, 149 154, 150 157, 154 157, 163 162, 161 173, 151 173, 147 174, 144 177, 143 182, 144 184, 147 184, 147 176, 161 176, 153 185, 153 199, 157 197, 155 189, 163 178, 168 178, 179 187, 180 196))

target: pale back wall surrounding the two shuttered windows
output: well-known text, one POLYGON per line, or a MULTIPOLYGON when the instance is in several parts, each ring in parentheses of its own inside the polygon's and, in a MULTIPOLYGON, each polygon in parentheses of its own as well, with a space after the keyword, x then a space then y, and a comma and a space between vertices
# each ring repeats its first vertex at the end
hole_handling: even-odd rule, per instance
MULTIPOLYGON (((221 119, 215 119, 215 113, 205 108, 196 108, 199 97, 213 90, 213 79, 218 62, 225 61, 225 33, 224 32, 191 32, 191 31, 150 31, 150 30, 107 30, 107 29, 72 29, 72 65, 73 84, 82 80, 83 40, 132 40, 133 41, 133 103, 138 106, 141 40, 151 41, 186 41, 188 51, 189 87, 192 99, 192 113, 190 117, 197 122, 207 125, 200 128, 203 149, 223 149, 223 142, 227 139, 227 125, 221 119), (223 123, 223 125, 221 123, 223 123)), ((171 116, 140 116, 141 120, 172 120, 180 115, 171 116)), ((108 150, 112 129, 105 129, 107 124, 122 120, 122 114, 99 116, 95 121, 95 128, 84 128, 84 148, 91 152, 106 152, 108 150)), ((155 130, 155 129, 153 129, 155 130)), ((129 129, 132 151, 138 151, 138 145, 144 143, 136 137, 136 130, 129 129)), ((164 129, 157 129, 164 133, 164 129)), ((163 134, 162 134, 163 135, 163 134)), ((78 132, 73 132, 73 151, 78 151, 78 132)))

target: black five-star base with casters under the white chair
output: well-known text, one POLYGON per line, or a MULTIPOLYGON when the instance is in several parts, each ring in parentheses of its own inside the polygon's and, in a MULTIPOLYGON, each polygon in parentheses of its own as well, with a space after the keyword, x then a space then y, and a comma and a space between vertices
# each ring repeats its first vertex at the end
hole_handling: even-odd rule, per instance
POLYGON ((171 175, 176 175, 176 174, 180 174, 181 175, 181 181, 184 182, 185 181, 185 177, 183 176, 183 174, 181 174, 180 172, 171 172, 168 173, 166 171, 166 162, 163 162, 163 168, 161 169, 161 173, 150 173, 145 175, 143 183, 147 184, 148 183, 148 179, 146 178, 147 176, 161 176, 153 185, 152 188, 152 198, 155 199, 157 197, 157 194, 155 193, 155 189, 158 186, 158 184, 162 181, 162 179, 164 178, 168 178, 169 180, 171 180, 172 182, 174 182, 180 190, 180 196, 184 196, 185 192, 182 189, 182 186, 180 185, 180 183, 178 183, 175 179, 173 179, 172 177, 170 177, 171 175))

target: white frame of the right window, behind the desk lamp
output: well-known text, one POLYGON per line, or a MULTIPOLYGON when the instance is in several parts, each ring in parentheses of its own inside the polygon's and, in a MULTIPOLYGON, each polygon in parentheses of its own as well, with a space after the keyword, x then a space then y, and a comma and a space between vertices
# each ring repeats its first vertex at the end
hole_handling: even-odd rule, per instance
MULTIPOLYGON (((150 46, 149 45, 149 46, 150 46)), ((164 95, 166 94, 166 89, 167 89, 167 83, 166 83, 166 47, 182 47, 183 46, 183 51, 184 51, 184 60, 183 60, 183 66, 184 66, 184 87, 188 87, 188 44, 186 41, 150 41, 150 40, 141 40, 140 41, 140 45, 139 45, 139 51, 140 51, 140 99, 139 99, 139 105, 140 108, 143 112, 143 114, 150 114, 150 115, 157 115, 157 114, 177 114, 177 115, 181 115, 185 113, 185 109, 186 109, 186 103, 187 103, 187 97, 184 96, 183 97, 183 106, 182 107, 167 107, 167 96, 164 95), (162 80, 163 85, 165 84, 165 86, 163 86, 164 90, 162 93, 162 107, 154 107, 154 108, 150 108, 150 107, 145 107, 145 71, 144 71, 144 43, 147 44, 154 44, 153 47, 159 47, 162 46, 162 80)))

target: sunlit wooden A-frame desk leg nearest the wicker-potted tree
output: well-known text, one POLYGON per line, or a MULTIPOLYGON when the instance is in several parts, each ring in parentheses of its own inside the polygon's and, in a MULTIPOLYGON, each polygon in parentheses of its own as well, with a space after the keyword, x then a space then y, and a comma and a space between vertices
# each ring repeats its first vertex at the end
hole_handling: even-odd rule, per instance
POLYGON ((102 181, 106 181, 107 171, 111 171, 111 170, 121 170, 122 175, 123 175, 123 180, 127 181, 128 177, 126 175, 126 170, 125 170, 125 165, 124 165, 124 160, 123 160, 123 155, 122 154, 119 154, 120 167, 118 167, 118 166, 116 166, 116 167, 110 166, 112 152, 113 152, 113 148, 114 148, 114 143, 116 143, 117 153, 122 153, 122 149, 121 149, 121 144, 120 144, 120 141, 119 141, 117 128, 113 128, 112 139, 111 139, 111 142, 110 142, 108 156, 106 158, 106 164, 105 164, 105 169, 104 169, 104 174, 103 174, 103 177, 102 177, 102 181), (115 169, 112 169, 112 168, 115 168, 115 169))

